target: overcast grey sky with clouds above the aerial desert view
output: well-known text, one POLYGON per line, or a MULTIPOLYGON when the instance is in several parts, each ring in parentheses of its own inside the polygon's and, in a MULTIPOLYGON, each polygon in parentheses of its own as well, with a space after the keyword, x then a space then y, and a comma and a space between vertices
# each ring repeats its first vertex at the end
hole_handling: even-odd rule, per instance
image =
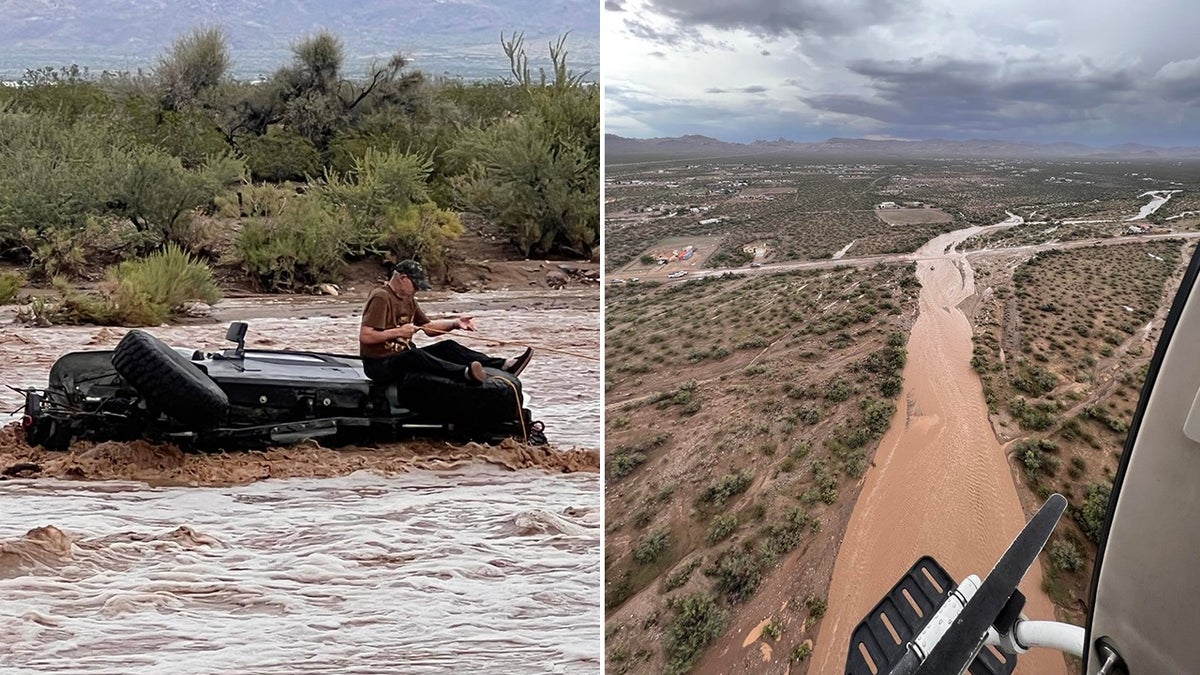
POLYGON ((1200 145, 1196 0, 604 0, 605 131, 1200 145))

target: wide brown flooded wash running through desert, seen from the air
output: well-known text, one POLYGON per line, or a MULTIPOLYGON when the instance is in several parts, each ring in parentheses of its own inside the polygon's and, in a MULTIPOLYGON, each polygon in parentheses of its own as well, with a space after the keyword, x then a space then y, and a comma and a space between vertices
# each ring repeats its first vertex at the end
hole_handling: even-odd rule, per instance
MULTIPOLYGON (((932 555, 958 580, 984 578, 1025 525, 971 369, 971 324, 958 309, 974 280, 954 247, 979 229, 943 234, 917 253, 920 313, 908 339, 905 400, 846 527, 811 673, 845 671, 850 633, 918 557, 932 555)), ((1030 619, 1054 620, 1037 563, 1021 591, 1030 619)), ((1066 663, 1060 652, 1033 650, 1018 673, 1066 673, 1066 663)))

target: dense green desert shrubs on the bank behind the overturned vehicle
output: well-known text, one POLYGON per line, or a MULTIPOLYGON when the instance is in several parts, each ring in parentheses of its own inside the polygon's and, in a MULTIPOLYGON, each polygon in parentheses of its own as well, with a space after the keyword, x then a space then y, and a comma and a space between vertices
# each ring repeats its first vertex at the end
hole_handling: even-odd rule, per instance
POLYGON ((236 80, 205 28, 149 74, 30 70, 0 88, 0 262, 62 287, 103 267, 134 283, 120 263, 173 245, 296 292, 355 259, 444 274, 460 213, 521 256, 598 255, 599 88, 568 67, 565 40, 550 72, 520 35, 503 47, 511 77, 480 83, 401 54, 352 77, 331 32, 236 80))

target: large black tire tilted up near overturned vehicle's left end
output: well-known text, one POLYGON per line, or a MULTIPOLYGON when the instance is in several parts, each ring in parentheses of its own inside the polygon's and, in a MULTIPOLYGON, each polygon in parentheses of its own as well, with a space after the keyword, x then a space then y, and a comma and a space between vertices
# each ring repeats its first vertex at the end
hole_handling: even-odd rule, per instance
POLYGON ((144 330, 130 330, 113 351, 113 368, 146 404, 184 424, 216 426, 229 396, 184 354, 144 330))

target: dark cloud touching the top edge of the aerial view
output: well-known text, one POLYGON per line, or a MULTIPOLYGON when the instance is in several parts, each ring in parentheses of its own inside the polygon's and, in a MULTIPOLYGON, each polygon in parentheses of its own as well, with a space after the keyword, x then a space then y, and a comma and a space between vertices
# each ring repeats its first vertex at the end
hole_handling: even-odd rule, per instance
POLYGON ((649 0, 650 7, 682 25, 769 36, 853 32, 914 5, 911 0, 649 0))

